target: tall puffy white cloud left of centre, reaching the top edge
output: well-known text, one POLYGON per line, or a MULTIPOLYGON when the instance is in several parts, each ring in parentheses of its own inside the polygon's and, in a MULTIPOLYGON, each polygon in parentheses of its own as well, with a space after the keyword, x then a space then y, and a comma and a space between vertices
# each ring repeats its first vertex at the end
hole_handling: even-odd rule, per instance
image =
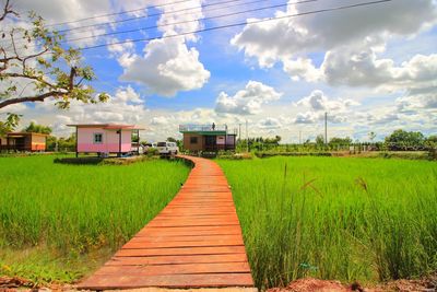
POLYGON ((198 40, 197 35, 190 32, 201 27, 200 21, 192 21, 203 17, 200 7, 200 0, 156 7, 163 12, 156 23, 162 36, 182 35, 153 39, 145 45, 143 55, 132 52, 131 45, 128 48, 126 45, 109 48, 123 68, 120 81, 137 82, 144 85, 150 93, 167 97, 175 96, 180 91, 201 89, 211 73, 200 62, 199 51, 187 45, 188 42, 198 40), (191 10, 193 7, 198 9, 191 10), (187 9, 190 9, 190 13, 186 13, 187 9))

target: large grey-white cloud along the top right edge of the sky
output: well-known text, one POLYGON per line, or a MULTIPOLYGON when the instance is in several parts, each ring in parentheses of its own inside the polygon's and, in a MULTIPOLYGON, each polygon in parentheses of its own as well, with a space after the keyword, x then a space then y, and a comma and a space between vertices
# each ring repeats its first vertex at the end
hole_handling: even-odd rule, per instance
MULTIPOLYGON (((351 3, 353 1, 349 0, 342 5, 351 3)), ((319 2, 306 5, 288 2, 286 12, 276 11, 275 16, 339 5, 335 0, 323 1, 322 5, 319 2)), ((412 35, 434 23, 435 19, 433 0, 397 0, 341 12, 247 24, 231 44, 244 50, 246 56, 256 57, 261 67, 271 67, 279 60, 310 51, 330 50, 368 36, 412 35)))

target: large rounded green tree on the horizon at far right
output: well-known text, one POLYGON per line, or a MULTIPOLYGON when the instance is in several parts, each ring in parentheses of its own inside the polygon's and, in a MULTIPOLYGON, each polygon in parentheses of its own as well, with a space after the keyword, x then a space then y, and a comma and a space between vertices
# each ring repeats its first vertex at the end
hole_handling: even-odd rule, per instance
POLYGON ((389 150, 422 150, 425 145, 425 137, 422 132, 395 130, 386 137, 386 144, 389 150))

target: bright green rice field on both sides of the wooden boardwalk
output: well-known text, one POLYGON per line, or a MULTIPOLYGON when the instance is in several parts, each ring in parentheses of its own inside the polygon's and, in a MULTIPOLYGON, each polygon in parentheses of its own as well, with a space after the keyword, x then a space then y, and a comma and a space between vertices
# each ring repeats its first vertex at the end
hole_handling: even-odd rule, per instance
MULTIPOLYGON (((0 275, 72 282, 153 219, 189 167, 0 157, 0 275)), ((375 283, 437 270, 437 164, 351 157, 217 160, 258 288, 302 277, 375 283)))

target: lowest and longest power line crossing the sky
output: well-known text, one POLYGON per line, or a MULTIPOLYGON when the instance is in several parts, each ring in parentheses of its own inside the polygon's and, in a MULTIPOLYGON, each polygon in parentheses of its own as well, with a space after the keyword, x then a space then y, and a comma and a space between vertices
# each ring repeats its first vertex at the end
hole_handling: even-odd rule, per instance
POLYGON ((156 39, 185 36, 185 35, 190 35, 190 34, 211 32, 211 31, 237 27, 237 26, 243 26, 243 25, 250 25, 250 24, 257 24, 257 23, 263 23, 263 22, 270 22, 270 21, 277 21, 277 20, 283 20, 283 19, 291 19, 291 17, 297 17, 297 16, 304 16, 304 15, 310 15, 310 14, 347 10, 347 9, 353 9, 353 8, 358 8, 358 7, 375 5, 375 4, 380 4, 380 3, 391 2, 391 1, 392 0, 378 0, 378 1, 370 1, 370 2, 362 2, 362 3, 356 3, 356 4, 336 7, 336 8, 327 8, 327 9, 320 9, 320 10, 315 10, 315 11, 300 12, 300 13, 296 13, 296 14, 287 14, 287 15, 276 16, 276 17, 264 19, 264 20, 256 20, 256 21, 251 21, 251 22, 239 22, 239 23, 233 23, 233 24, 226 24, 226 25, 220 25, 220 26, 212 26, 212 27, 206 27, 206 28, 186 32, 186 33, 164 35, 164 36, 160 36, 160 37, 135 38, 135 39, 121 40, 121 42, 116 42, 116 43, 110 43, 110 44, 102 44, 102 45, 96 45, 96 46, 82 47, 80 49, 88 50, 88 49, 121 45, 121 44, 126 44, 126 43, 151 42, 151 40, 156 40, 156 39))

